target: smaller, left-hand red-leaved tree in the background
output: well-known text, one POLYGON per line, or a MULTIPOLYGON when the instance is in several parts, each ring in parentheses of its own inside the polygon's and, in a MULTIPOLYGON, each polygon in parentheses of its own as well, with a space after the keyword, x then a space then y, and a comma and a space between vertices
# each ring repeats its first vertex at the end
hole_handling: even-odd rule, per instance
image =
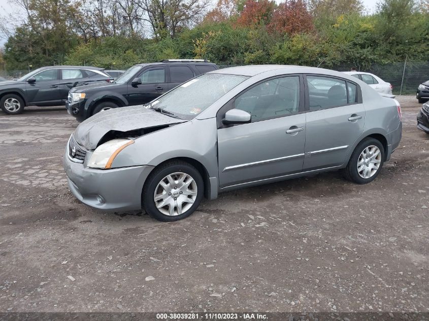
POLYGON ((268 25, 271 22, 274 6, 274 1, 270 0, 247 0, 237 19, 237 24, 243 27, 268 25))

